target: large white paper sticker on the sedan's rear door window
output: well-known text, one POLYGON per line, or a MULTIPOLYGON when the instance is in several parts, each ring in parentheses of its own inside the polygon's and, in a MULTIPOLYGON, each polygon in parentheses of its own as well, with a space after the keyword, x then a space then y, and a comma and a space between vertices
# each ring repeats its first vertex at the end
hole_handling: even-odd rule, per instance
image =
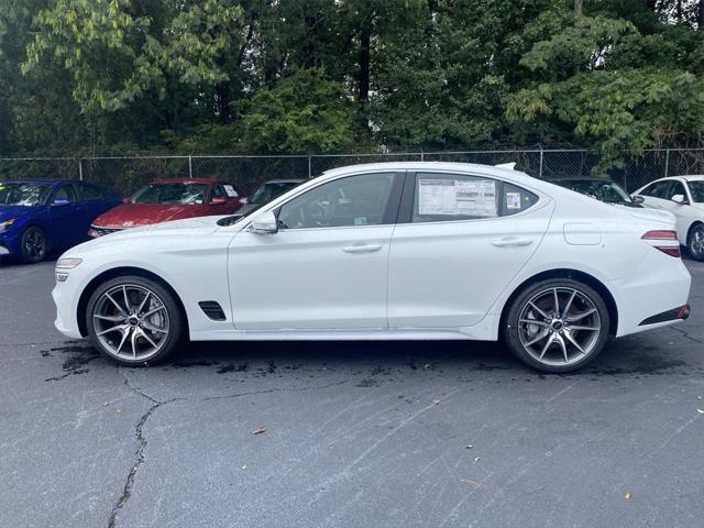
POLYGON ((421 179, 418 215, 496 217, 496 183, 492 179, 421 179))

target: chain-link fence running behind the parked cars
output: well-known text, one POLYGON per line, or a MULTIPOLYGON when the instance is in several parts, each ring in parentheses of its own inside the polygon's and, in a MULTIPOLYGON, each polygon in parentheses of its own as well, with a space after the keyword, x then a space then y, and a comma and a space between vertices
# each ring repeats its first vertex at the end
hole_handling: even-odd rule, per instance
MULTIPOLYGON (((598 157, 579 148, 404 152, 287 156, 132 156, 88 158, 0 158, 0 179, 68 178, 103 185, 128 196, 155 178, 219 178, 244 194, 273 178, 310 178, 330 168, 359 163, 442 161, 497 165, 516 163, 531 176, 553 179, 591 176, 598 157)), ((608 174, 626 190, 663 176, 704 174, 704 148, 646 151, 608 174)))

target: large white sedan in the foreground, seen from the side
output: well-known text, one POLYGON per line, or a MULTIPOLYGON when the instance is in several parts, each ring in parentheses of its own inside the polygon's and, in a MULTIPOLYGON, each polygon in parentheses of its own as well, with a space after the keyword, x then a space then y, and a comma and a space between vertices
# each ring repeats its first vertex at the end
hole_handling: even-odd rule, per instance
POLYGON ((56 328, 127 365, 186 338, 502 339, 528 365, 568 372, 609 336, 688 317, 673 229, 671 215, 506 168, 356 165, 244 218, 72 249, 56 265, 56 328))

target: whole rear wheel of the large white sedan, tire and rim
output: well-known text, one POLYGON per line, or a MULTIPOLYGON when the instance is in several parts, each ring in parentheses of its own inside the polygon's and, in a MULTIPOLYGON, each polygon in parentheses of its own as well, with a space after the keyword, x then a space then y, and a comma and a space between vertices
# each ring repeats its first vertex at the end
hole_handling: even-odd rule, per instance
POLYGON ((594 288, 571 278, 551 278, 532 284, 516 296, 504 320, 503 337, 514 355, 531 369, 565 373, 583 367, 600 354, 608 340, 609 326, 606 304, 594 288), (576 294, 570 305, 572 292, 576 294), (559 310, 564 311, 568 306, 569 314, 560 314, 554 318, 554 310, 550 311, 549 305, 543 305, 542 314, 550 316, 546 319, 538 311, 540 306, 534 307, 543 298, 554 298, 556 295, 559 310), (531 305, 534 301, 536 304, 531 305), (572 320, 573 318, 579 319, 572 320), (541 336, 541 340, 530 345, 541 336), (549 340, 551 343, 548 343, 549 340), (580 343, 580 340, 584 342, 580 343), (564 364, 562 358, 568 358, 564 364))

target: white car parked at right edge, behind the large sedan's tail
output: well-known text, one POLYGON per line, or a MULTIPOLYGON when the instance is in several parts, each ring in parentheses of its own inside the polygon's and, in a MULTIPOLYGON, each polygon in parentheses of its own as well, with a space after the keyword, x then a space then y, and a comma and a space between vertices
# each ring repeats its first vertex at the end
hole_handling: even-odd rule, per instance
POLYGON ((676 218, 678 240, 690 256, 704 261, 704 176, 671 176, 657 179, 636 193, 645 205, 676 218))

